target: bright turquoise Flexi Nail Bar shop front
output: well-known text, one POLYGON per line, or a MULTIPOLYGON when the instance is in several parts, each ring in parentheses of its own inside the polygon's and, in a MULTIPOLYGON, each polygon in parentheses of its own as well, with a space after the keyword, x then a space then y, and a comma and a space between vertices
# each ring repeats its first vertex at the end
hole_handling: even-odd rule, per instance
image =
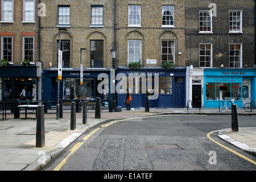
POLYGON ((250 98, 255 100, 255 92, 256 69, 204 69, 204 107, 219 107, 232 99, 243 107, 250 98))

